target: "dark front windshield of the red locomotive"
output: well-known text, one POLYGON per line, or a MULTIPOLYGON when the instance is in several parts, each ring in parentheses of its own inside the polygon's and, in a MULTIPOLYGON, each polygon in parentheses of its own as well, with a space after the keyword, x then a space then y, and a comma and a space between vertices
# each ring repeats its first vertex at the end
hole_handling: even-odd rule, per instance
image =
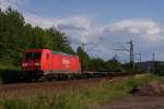
POLYGON ((40 59, 40 52, 26 52, 25 59, 40 59))

